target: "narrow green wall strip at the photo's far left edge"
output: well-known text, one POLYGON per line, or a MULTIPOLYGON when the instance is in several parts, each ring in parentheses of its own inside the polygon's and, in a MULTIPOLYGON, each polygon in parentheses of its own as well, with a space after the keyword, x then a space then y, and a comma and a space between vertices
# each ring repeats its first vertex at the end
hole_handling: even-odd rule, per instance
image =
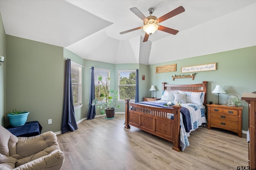
POLYGON ((5 126, 6 113, 6 35, 0 13, 0 56, 5 57, 0 66, 0 125, 5 126))

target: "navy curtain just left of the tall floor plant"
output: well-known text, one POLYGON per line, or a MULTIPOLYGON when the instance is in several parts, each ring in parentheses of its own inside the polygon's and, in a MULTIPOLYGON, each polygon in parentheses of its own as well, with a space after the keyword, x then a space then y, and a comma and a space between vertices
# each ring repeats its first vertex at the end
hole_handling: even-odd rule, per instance
POLYGON ((94 67, 91 67, 91 86, 90 86, 90 102, 87 113, 87 119, 94 119, 96 115, 95 106, 92 106, 92 100, 95 99, 95 85, 94 85, 94 67))

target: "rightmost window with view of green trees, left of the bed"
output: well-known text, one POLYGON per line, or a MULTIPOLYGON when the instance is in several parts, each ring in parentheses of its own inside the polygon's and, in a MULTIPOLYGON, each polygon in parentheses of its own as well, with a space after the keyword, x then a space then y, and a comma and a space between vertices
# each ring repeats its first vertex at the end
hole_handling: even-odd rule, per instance
POLYGON ((130 99, 135 101, 136 71, 118 70, 118 100, 130 99))

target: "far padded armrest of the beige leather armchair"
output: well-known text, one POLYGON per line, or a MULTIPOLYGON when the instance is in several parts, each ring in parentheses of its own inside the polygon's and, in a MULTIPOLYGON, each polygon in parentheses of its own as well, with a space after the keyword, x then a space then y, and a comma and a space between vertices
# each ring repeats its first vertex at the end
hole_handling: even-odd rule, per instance
POLYGON ((36 154, 37 152, 40 152, 41 150, 53 145, 56 145, 56 147, 59 149, 56 134, 52 131, 48 131, 34 137, 18 137, 16 153, 20 158, 23 158, 36 154))

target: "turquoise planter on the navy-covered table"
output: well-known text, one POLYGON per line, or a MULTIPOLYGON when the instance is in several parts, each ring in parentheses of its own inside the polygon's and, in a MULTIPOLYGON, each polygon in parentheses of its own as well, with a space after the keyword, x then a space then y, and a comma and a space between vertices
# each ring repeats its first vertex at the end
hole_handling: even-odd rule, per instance
POLYGON ((13 127, 17 126, 23 126, 28 118, 28 111, 23 112, 22 114, 14 115, 12 113, 9 113, 7 116, 9 118, 10 125, 13 127))

